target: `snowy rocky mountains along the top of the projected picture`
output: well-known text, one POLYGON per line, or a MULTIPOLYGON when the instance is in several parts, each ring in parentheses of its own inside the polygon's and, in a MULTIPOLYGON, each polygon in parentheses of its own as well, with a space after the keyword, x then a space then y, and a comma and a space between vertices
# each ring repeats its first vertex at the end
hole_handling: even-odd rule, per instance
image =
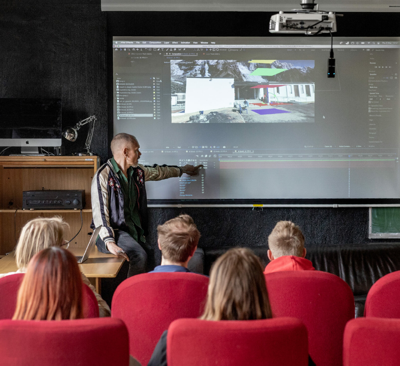
POLYGON ((314 60, 274 60, 271 64, 238 60, 171 60, 171 92, 184 93, 186 78, 234 78, 235 82, 312 82, 314 60), (286 69, 276 75, 252 75, 258 68, 286 69))

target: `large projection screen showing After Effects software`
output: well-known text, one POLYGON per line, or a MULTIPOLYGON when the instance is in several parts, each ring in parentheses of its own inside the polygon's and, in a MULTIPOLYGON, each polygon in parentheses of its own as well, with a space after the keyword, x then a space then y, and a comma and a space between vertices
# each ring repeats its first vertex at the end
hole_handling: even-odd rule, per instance
MULTIPOLYGON (((399 38, 113 38, 114 134, 202 164, 148 199, 399 199, 399 38)), ((157 201, 154 201, 157 202, 157 201)))

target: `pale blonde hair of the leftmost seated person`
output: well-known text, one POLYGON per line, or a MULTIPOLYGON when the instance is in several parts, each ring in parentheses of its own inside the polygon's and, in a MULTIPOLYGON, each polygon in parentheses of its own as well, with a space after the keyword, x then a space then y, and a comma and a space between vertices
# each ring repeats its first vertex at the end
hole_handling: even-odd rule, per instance
POLYGON ((68 223, 59 216, 37 217, 28 221, 21 229, 15 250, 18 268, 25 268, 30 259, 42 249, 61 247, 68 223))

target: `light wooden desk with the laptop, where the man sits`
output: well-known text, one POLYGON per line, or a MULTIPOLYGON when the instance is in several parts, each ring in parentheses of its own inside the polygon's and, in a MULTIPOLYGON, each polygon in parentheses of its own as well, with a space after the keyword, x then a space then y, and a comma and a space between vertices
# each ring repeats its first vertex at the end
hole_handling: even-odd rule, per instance
MULTIPOLYGON (((83 255, 85 248, 69 248, 74 255, 83 255)), ((101 278, 115 277, 124 263, 124 258, 113 254, 104 254, 93 248, 89 258, 79 265, 80 271, 88 277, 94 278, 96 291, 101 293, 101 278)), ((0 273, 15 272, 17 270, 14 254, 11 253, 0 259, 0 273)))

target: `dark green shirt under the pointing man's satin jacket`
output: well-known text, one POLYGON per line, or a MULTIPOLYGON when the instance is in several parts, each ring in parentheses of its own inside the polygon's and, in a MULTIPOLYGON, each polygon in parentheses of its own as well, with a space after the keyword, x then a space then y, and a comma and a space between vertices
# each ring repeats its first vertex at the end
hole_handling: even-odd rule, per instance
POLYGON ((146 239, 143 236, 144 230, 142 229, 142 226, 140 224, 138 189, 132 179, 134 168, 128 168, 126 172, 128 175, 127 178, 114 160, 114 157, 111 158, 111 164, 114 168, 114 171, 118 175, 118 179, 122 188, 122 193, 124 194, 124 216, 125 224, 128 227, 128 234, 138 243, 146 243, 146 239), (140 238, 140 240, 138 240, 138 238, 140 238))

